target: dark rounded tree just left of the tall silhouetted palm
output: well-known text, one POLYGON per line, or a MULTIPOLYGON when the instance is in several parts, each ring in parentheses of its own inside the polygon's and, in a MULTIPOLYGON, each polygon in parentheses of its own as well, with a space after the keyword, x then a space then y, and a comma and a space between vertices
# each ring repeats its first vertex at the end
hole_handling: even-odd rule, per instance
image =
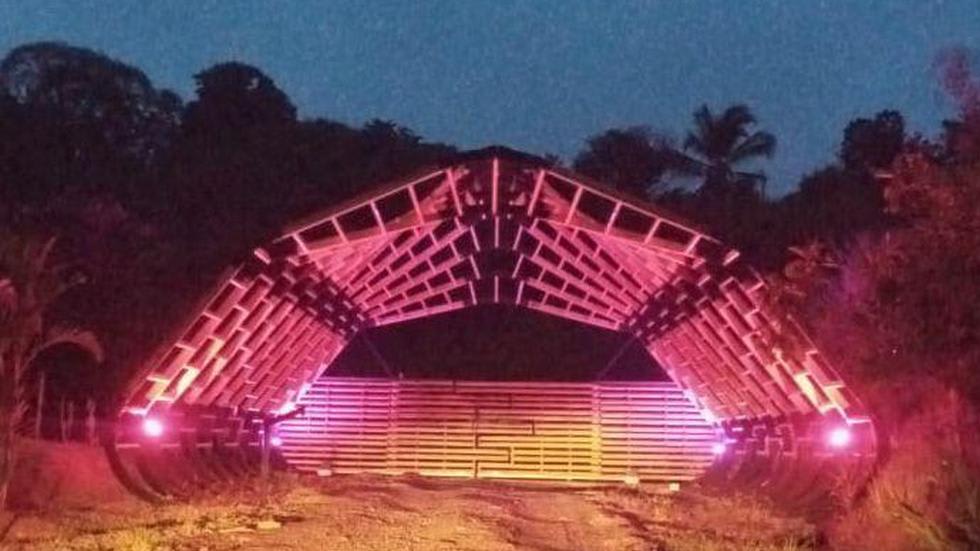
POLYGON ((572 166, 586 176, 649 199, 664 191, 664 177, 682 168, 682 160, 669 139, 645 126, 632 126, 590 137, 572 166))

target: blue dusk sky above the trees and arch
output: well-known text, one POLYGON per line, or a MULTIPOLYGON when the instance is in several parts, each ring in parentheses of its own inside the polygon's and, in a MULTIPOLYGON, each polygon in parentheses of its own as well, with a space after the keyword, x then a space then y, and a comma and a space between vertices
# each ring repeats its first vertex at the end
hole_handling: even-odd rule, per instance
POLYGON ((682 137, 701 103, 745 102, 779 139, 779 191, 830 161, 856 116, 895 108, 935 133, 952 107, 933 60, 980 50, 980 1, 0 1, 0 47, 37 40, 100 50, 185 99, 194 73, 244 61, 304 117, 565 159, 612 126, 682 137))

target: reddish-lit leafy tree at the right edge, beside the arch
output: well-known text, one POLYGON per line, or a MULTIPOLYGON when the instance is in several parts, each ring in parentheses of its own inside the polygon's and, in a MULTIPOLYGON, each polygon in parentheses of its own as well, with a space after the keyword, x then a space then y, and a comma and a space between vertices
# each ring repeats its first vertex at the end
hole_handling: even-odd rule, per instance
POLYGON ((787 282, 825 349, 868 380, 945 380, 980 400, 980 163, 946 164, 904 153, 883 180, 887 231, 797 250, 787 282), (821 257, 837 259, 827 277, 821 257), (807 268, 807 269, 803 269, 807 268), (818 270, 819 271, 819 270, 818 270))

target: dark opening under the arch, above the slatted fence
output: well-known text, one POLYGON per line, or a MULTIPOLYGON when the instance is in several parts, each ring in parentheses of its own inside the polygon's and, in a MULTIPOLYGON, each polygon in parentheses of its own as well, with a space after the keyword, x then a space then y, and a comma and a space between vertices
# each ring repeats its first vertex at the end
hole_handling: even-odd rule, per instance
POLYGON ((632 335, 509 305, 363 331, 325 376, 468 381, 661 381, 632 335))

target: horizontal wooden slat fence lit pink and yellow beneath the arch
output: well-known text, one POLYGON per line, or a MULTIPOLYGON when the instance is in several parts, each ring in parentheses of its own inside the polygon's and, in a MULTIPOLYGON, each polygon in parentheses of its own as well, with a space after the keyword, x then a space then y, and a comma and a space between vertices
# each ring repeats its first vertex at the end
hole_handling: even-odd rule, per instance
POLYGON ((686 481, 717 440, 670 382, 322 378, 299 403, 279 434, 307 472, 686 481))

